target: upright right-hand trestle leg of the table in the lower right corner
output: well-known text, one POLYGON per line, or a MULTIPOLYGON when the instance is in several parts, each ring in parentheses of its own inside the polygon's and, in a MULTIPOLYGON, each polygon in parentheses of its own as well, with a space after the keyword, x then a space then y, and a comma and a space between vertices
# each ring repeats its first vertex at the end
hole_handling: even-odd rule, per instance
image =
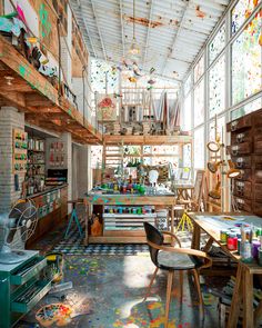
POLYGON ((243 328, 253 328, 253 275, 248 268, 243 270, 243 328))

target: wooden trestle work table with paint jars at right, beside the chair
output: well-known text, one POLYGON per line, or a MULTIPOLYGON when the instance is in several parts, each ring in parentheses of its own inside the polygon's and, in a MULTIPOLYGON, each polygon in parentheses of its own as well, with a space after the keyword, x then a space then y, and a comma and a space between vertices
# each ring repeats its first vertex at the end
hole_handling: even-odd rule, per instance
MULTIPOLYGON (((244 213, 226 213, 225 216, 244 216, 244 213)), ((230 316, 228 328, 235 328, 238 318, 240 315, 240 306, 243 305, 243 328, 259 327, 259 319, 262 315, 262 301, 258 308, 253 309, 253 275, 262 275, 262 267, 255 261, 252 264, 245 264, 241 261, 240 255, 236 251, 230 251, 226 245, 220 241, 220 230, 224 227, 219 228, 212 222, 208 222, 206 218, 211 218, 212 213, 190 213, 190 218, 193 221, 194 230, 192 238, 192 248, 200 249, 200 233, 201 230, 209 235, 209 240, 204 250, 206 251, 213 241, 215 241, 229 256, 238 261, 236 281, 233 291, 233 298, 230 308, 230 316)), ((245 222, 253 223, 254 226, 261 226, 262 219, 259 217, 246 215, 245 222)))

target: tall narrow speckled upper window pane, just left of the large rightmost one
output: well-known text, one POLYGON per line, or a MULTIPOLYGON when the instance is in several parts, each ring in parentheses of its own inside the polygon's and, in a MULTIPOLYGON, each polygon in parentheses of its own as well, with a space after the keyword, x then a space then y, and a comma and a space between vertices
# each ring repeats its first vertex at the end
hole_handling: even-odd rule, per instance
POLYGON ((224 54, 209 72, 209 110, 210 117, 224 110, 225 89, 224 54))

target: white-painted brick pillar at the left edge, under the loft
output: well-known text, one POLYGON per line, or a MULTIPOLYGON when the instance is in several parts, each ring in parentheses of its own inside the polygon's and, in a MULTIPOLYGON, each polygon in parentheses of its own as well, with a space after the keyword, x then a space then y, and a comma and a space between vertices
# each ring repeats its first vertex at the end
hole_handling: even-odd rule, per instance
MULTIPOLYGON (((10 210, 21 195, 14 188, 14 173, 12 163, 12 130, 24 130, 24 115, 13 107, 0 109, 0 212, 10 210)), ((19 186, 24 180, 24 173, 19 175, 19 186)))

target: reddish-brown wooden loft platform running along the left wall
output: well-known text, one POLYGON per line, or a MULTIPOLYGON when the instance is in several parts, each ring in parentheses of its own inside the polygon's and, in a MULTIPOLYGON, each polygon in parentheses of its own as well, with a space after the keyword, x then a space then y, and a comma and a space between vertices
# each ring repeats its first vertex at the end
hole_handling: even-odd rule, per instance
POLYGON ((0 36, 0 106, 13 106, 26 121, 56 132, 69 131, 80 143, 101 143, 98 132, 19 51, 0 36), (11 77, 10 85, 8 79, 11 77))

